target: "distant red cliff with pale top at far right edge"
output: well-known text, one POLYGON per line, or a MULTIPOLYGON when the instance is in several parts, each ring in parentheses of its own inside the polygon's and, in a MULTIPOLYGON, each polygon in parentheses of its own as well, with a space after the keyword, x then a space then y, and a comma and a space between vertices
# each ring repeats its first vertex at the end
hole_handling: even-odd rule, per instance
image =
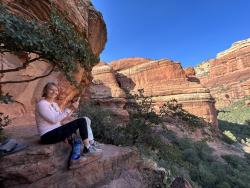
POLYGON ((250 95, 250 39, 233 45, 195 68, 201 84, 210 89, 222 108, 250 95))

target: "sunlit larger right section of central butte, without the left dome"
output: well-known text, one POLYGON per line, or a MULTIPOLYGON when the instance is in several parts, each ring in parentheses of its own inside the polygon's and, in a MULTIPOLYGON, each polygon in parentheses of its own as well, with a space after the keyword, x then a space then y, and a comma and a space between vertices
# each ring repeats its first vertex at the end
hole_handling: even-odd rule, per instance
POLYGON ((152 96, 156 106, 175 98, 189 112, 217 125, 214 99, 209 90, 196 80, 189 81, 193 72, 185 72, 180 63, 168 59, 129 58, 111 62, 110 66, 116 70, 118 85, 123 90, 133 93, 144 89, 144 94, 152 96), (126 62, 125 65, 121 61, 126 62))

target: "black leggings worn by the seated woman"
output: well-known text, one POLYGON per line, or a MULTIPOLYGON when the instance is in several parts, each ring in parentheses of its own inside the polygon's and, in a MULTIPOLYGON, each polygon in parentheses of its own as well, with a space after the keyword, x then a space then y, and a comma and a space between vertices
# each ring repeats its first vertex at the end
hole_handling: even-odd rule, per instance
POLYGON ((41 136, 42 144, 54 144, 64 141, 79 129, 82 140, 88 138, 88 129, 85 118, 79 118, 53 129, 41 136))

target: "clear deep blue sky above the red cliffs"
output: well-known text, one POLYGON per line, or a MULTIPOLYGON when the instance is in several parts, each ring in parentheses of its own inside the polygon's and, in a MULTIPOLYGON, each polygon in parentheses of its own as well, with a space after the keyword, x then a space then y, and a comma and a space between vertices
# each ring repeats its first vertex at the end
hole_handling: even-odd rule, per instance
POLYGON ((168 58, 183 67, 250 37, 250 0, 92 0, 107 25, 101 60, 168 58))

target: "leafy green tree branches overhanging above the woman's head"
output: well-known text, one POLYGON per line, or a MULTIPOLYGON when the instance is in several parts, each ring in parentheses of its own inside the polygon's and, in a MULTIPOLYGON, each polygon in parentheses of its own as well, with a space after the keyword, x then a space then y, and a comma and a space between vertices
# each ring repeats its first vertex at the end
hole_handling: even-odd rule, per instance
POLYGON ((52 64, 51 70, 29 80, 2 81, 0 84, 32 81, 48 76, 53 70, 62 71, 67 79, 74 82, 72 73, 79 63, 90 69, 99 59, 92 53, 90 46, 73 25, 52 8, 48 21, 27 20, 9 12, 0 4, 0 53, 26 55, 22 66, 13 69, 1 69, 8 73, 25 69, 29 64, 41 60, 52 64))

